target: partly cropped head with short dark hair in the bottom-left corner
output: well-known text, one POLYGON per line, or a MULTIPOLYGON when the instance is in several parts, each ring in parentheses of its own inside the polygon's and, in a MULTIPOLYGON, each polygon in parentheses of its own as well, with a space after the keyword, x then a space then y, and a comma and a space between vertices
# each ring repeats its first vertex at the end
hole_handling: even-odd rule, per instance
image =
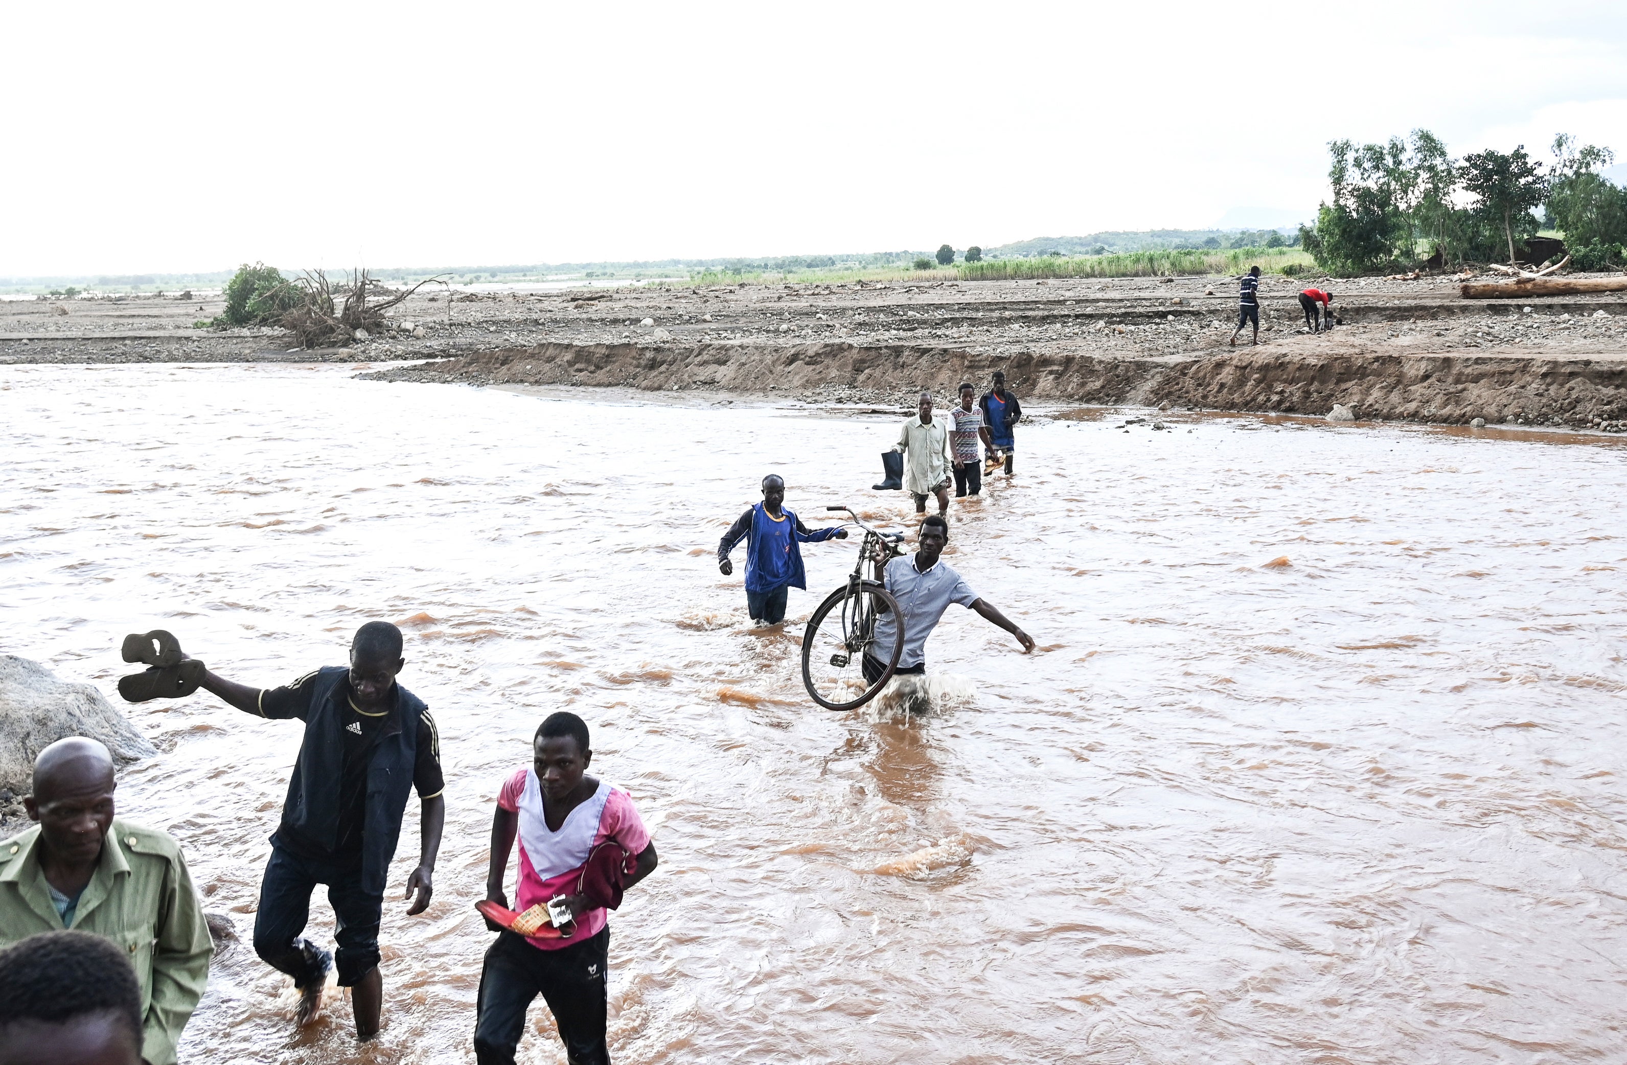
POLYGON ((0 951, 0 1065, 140 1065, 142 987, 99 935, 44 932, 0 951))

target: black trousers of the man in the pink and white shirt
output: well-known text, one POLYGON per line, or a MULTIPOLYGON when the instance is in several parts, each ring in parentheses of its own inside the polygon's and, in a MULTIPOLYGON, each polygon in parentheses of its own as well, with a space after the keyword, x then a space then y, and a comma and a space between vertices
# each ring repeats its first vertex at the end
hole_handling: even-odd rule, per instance
POLYGON ((569 1065, 610 1065, 605 1045, 610 928, 563 950, 537 950, 513 932, 498 933, 480 969, 475 1062, 514 1065, 526 1010, 542 995, 553 1013, 569 1065))

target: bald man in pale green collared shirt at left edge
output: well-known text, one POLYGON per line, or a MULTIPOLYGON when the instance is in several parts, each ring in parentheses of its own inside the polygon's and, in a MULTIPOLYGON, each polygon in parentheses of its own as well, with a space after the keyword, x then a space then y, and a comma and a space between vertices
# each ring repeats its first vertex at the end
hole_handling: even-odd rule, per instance
POLYGON ((213 945, 176 841, 114 816, 112 756, 59 740, 34 759, 39 821, 0 842, 0 946, 73 928, 117 945, 142 985, 142 1060, 174 1065, 213 945))

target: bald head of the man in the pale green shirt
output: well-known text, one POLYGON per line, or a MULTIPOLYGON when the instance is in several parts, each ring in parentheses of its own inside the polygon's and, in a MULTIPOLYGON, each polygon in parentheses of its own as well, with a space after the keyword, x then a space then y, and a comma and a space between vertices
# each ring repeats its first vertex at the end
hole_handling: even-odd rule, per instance
POLYGON ((59 862, 91 863, 112 828, 112 754, 96 740, 57 740, 34 759, 34 793, 23 800, 59 862))

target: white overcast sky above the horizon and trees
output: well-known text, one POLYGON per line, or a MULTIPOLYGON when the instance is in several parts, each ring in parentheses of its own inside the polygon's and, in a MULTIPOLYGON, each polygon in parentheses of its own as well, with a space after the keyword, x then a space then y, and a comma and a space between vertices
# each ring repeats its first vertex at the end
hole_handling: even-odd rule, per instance
POLYGON ((1310 215, 1326 141, 1627 158, 1627 3, 0 3, 0 276, 1310 215))

